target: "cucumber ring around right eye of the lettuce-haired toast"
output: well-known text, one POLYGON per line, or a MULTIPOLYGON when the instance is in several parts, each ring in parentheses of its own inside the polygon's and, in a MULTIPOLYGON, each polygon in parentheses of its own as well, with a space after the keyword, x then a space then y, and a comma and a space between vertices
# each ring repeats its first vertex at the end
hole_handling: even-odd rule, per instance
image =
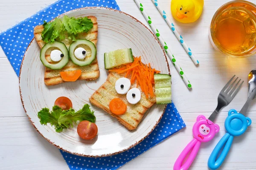
POLYGON ((90 63, 93 62, 93 60, 96 58, 96 47, 94 45, 93 42, 89 41, 89 40, 76 40, 75 42, 73 42, 72 44, 70 44, 69 47, 69 56, 70 59, 72 60, 72 62, 76 65, 79 66, 85 66, 85 65, 89 65, 90 63), (79 46, 84 45, 82 47, 86 48, 86 57, 84 59, 78 59, 76 58, 74 51, 76 48, 78 48, 79 46))

